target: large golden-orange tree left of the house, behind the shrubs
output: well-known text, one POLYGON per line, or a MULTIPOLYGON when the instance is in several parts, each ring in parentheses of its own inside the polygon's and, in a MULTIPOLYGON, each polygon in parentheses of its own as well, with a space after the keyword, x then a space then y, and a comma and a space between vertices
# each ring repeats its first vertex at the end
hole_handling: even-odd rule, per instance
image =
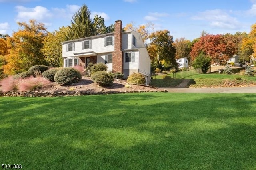
POLYGON ((30 20, 28 24, 26 22, 17 22, 17 24, 20 29, 7 39, 10 54, 6 57, 7 64, 3 66, 7 75, 26 71, 33 65, 46 65, 41 52, 47 34, 44 24, 36 20, 30 20))

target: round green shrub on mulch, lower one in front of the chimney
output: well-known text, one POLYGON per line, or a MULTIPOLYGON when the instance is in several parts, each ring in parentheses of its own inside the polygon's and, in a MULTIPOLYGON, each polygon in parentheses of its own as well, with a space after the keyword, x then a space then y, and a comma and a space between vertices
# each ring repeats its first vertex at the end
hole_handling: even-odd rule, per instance
POLYGON ((91 79, 94 83, 101 86, 110 85, 114 81, 113 76, 106 71, 97 71, 93 73, 91 79))

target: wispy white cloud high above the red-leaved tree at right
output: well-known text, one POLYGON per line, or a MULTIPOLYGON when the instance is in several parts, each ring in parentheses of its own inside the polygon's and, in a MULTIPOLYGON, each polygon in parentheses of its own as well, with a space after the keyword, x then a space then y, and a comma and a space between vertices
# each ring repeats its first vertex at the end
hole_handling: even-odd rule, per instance
POLYGON ((227 28, 227 29, 239 29, 241 28, 240 22, 230 16, 223 10, 206 10, 204 12, 198 12, 198 15, 193 16, 192 20, 203 20, 214 28, 227 28))

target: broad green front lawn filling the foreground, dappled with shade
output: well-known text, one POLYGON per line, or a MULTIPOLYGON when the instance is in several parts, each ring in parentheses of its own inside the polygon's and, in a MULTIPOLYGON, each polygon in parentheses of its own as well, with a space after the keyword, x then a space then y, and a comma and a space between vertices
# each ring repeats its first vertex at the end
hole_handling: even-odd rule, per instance
POLYGON ((256 94, 0 97, 0 163, 22 169, 256 169, 256 94))

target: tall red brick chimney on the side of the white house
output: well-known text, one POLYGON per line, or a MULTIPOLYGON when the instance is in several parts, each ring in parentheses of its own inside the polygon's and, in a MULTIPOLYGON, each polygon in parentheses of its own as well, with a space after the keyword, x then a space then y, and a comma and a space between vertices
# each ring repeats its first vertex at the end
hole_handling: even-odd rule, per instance
POLYGON ((122 54, 122 21, 118 20, 115 23, 115 47, 113 52, 113 73, 123 73, 124 60, 122 54))

